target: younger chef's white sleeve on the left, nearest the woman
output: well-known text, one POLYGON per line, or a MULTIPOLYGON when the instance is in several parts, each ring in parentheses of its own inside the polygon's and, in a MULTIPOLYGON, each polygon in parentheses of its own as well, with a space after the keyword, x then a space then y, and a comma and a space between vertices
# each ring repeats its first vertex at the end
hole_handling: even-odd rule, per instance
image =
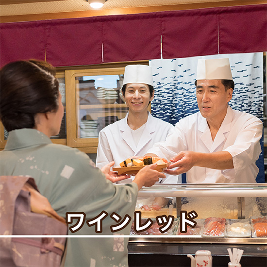
POLYGON ((102 168, 111 161, 113 161, 113 156, 110 150, 108 138, 104 132, 100 131, 98 137, 96 166, 98 168, 102 168))

